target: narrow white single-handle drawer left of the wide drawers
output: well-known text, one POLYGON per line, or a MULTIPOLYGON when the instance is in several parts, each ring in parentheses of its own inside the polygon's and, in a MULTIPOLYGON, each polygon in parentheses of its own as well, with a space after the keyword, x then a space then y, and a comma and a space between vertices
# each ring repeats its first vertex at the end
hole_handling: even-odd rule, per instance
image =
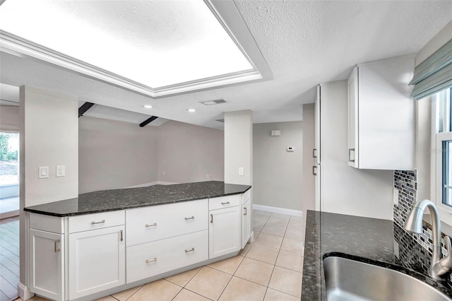
POLYGON ((124 210, 69 217, 69 233, 124 225, 124 210))

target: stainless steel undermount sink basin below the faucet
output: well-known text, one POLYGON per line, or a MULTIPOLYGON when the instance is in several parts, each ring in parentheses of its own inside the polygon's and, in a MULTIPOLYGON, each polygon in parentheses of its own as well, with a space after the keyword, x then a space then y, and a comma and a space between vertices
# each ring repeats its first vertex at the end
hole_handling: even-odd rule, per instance
POLYGON ((373 264, 328 256, 323 270, 328 301, 452 300, 423 281, 373 264))

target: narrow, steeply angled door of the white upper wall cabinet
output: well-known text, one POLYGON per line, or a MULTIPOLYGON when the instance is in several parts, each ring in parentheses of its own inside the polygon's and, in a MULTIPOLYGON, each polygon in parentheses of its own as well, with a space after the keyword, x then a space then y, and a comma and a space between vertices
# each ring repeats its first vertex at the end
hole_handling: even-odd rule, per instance
POLYGON ((348 78, 348 165, 359 167, 358 141, 358 67, 348 78))

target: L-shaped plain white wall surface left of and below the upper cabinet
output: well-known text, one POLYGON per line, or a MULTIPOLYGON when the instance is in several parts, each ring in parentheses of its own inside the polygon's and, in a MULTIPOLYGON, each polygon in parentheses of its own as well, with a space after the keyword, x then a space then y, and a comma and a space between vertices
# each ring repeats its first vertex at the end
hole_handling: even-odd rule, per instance
POLYGON ((347 81, 321 85, 321 210, 393 219, 393 171, 347 164, 347 81))

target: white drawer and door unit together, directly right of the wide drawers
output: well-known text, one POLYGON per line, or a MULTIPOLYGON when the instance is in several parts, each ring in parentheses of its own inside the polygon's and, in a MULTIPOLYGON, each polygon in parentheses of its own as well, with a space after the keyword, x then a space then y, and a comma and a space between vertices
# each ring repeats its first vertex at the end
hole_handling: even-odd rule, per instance
POLYGON ((209 199, 209 259, 242 249, 240 195, 209 199))

